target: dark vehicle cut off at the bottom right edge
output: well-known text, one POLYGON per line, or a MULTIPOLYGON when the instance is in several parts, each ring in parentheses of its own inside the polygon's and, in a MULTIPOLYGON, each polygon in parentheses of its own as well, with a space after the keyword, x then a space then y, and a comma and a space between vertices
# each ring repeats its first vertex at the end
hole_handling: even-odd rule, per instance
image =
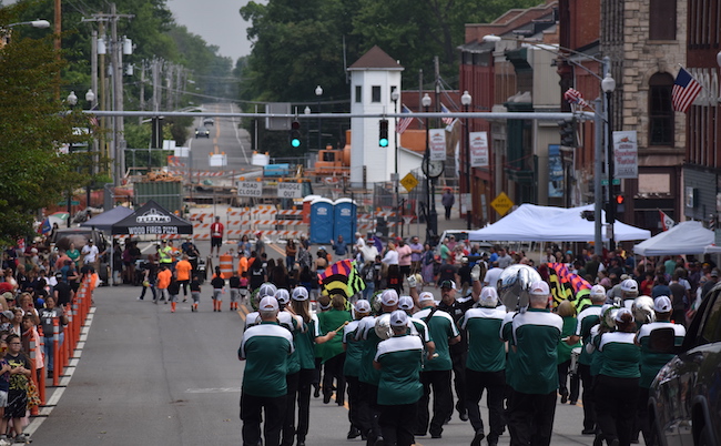
POLYGON ((658 444, 721 444, 721 285, 707 294, 680 351, 649 393, 658 444))

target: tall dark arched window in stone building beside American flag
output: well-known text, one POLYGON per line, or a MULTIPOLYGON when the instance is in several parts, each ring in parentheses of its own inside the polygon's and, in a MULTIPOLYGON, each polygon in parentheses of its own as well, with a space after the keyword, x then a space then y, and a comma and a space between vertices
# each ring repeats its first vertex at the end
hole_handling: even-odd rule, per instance
POLYGON ((649 145, 673 145, 673 77, 656 73, 649 80, 649 145))

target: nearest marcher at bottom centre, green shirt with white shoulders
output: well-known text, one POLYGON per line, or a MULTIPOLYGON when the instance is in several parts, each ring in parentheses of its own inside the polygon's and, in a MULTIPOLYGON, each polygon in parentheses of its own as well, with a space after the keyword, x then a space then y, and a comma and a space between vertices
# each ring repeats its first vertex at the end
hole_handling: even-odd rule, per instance
POLYGON ((378 344, 373 366, 380 371, 378 384, 379 424, 384 444, 410 446, 417 403, 423 395, 418 379, 423 364, 423 344, 408 335, 408 316, 402 310, 390 314, 393 337, 378 344))

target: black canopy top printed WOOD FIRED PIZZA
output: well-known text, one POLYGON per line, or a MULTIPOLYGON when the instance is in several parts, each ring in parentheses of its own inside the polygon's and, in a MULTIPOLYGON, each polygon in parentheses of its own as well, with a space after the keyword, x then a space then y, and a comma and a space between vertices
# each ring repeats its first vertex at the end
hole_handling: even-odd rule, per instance
POLYGON ((112 225, 113 235, 164 235, 192 234, 193 225, 149 200, 132 214, 112 225))

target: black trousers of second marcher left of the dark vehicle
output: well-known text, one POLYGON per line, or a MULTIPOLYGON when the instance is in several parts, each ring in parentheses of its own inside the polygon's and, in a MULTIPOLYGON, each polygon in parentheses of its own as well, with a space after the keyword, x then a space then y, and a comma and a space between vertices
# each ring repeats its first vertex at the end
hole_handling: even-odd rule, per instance
POLYGON ((601 436, 608 444, 618 439, 619 446, 631 444, 631 430, 639 397, 638 378, 616 378, 599 375, 596 383, 596 414, 601 436))

